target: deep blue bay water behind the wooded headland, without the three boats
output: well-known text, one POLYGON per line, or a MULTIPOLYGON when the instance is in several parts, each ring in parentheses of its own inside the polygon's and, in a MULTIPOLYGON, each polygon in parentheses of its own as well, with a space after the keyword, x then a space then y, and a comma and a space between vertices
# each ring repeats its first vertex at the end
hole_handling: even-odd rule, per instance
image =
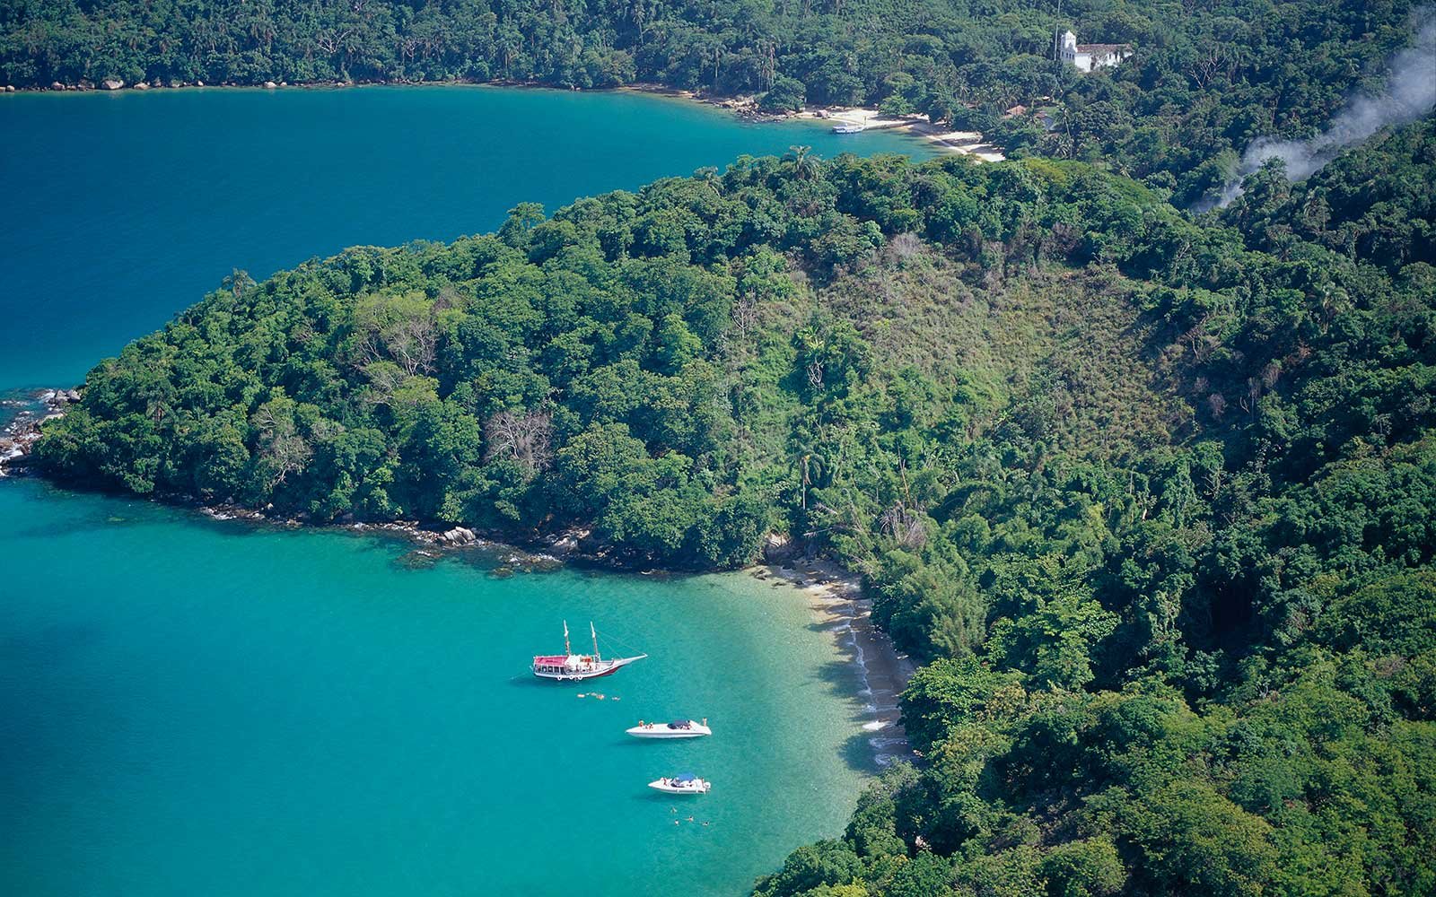
POLYGON ((913 138, 755 125, 636 93, 498 88, 0 95, 0 388, 75 383, 233 268, 493 230, 577 197, 813 146, 913 138))

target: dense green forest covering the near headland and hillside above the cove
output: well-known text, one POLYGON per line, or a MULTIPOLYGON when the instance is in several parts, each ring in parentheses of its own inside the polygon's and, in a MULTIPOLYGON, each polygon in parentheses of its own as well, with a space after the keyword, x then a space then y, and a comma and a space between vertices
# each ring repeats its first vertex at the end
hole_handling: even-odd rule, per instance
POLYGON ((761 897, 1436 890, 1436 121, 1193 220, 1074 161, 741 158, 243 273, 46 426, 69 482, 783 532, 922 761, 761 897))

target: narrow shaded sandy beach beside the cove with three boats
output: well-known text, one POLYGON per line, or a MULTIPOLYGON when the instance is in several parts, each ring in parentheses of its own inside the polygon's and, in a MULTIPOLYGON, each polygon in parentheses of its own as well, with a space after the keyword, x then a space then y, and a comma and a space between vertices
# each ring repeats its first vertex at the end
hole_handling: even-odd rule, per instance
POLYGON ((886 766, 896 759, 913 759, 898 696, 912 679, 916 664, 898 652, 892 639, 873 623, 873 606, 863 597, 860 577, 830 561, 801 558, 750 567, 748 573, 798 588, 808 600, 816 621, 833 633, 847 660, 859 669, 867 700, 863 729, 870 733, 867 741, 876 764, 886 766))

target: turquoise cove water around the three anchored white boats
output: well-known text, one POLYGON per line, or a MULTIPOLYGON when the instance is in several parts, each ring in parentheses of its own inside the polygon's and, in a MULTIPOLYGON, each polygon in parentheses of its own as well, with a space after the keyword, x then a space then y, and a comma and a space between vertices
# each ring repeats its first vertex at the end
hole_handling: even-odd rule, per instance
POLYGON ((0 891, 735 894, 841 831, 859 685, 791 588, 411 548, 0 484, 0 891), (526 675, 590 617, 652 656, 526 675))

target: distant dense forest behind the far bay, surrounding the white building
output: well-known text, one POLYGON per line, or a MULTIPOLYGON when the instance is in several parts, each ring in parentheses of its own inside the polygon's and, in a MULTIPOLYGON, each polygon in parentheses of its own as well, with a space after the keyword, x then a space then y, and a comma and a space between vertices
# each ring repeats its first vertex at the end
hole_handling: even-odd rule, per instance
POLYGON ((1103 161, 1186 205, 1261 135, 1304 138, 1409 42, 1413 3, 1298 0, 0 0, 0 83, 656 82, 882 103, 1008 155, 1103 161), (1132 43, 1054 66, 1053 34, 1132 43), (1004 119, 1015 103, 1053 125, 1004 119))

